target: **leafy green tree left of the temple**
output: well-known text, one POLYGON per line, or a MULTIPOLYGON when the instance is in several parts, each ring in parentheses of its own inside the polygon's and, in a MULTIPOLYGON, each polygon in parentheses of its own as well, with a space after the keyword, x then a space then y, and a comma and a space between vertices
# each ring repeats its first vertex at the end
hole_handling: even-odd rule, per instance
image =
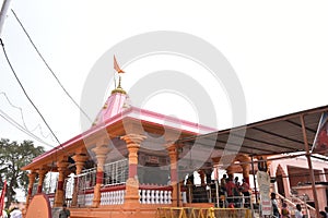
POLYGON ((35 147, 32 141, 24 141, 19 144, 13 141, 1 138, 0 141, 0 185, 3 186, 7 180, 7 204, 8 208, 11 202, 15 201, 15 189, 27 191, 28 177, 26 171, 21 168, 28 165, 33 158, 43 154, 43 147, 35 147))

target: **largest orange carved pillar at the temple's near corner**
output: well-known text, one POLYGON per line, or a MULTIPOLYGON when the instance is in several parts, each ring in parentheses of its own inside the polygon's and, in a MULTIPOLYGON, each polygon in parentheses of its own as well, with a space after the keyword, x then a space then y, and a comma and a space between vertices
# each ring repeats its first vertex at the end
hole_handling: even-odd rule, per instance
POLYGON ((129 150, 129 178, 126 182, 126 196, 125 206, 136 207, 139 203, 139 181, 138 181, 138 150, 140 144, 145 140, 144 135, 140 134, 128 134, 121 136, 127 143, 127 148, 129 150))

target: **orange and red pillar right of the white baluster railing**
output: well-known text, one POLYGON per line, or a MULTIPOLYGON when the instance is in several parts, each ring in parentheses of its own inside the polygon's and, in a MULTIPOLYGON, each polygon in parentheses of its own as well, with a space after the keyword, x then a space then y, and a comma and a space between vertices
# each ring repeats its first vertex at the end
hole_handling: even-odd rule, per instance
POLYGON ((178 161, 178 153, 177 146, 175 144, 168 144, 166 146, 169 156, 169 177, 171 177, 171 185, 172 190, 172 206, 177 207, 183 205, 183 199, 180 195, 180 187, 177 177, 177 161, 178 161))

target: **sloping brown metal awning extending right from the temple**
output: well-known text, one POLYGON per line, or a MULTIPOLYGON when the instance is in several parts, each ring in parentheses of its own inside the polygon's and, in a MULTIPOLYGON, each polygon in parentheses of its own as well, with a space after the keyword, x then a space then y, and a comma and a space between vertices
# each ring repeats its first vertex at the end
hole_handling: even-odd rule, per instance
POLYGON ((328 106, 294 112, 244 126, 226 129, 177 141, 178 144, 198 144, 212 147, 213 156, 220 150, 249 156, 305 152, 301 117, 304 117, 309 149, 317 132, 321 113, 328 106))

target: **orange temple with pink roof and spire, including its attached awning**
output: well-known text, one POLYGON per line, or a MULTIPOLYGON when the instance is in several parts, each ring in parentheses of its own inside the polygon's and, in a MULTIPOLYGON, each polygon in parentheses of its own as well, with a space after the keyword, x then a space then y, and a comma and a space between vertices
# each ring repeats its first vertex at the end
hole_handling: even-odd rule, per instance
MULTIPOLYGON (((115 68, 122 73, 117 63, 115 68)), ((216 131, 133 107, 119 81, 87 131, 36 157, 23 168, 30 172, 25 216, 39 215, 35 214, 40 213, 38 197, 45 197, 49 208, 68 204, 72 218, 155 217, 159 208, 224 208, 227 205, 223 198, 219 199, 219 183, 213 182, 219 179, 218 169, 225 169, 232 177, 242 173, 249 184, 255 179, 250 179, 249 172, 255 173, 258 164, 265 162, 272 168, 271 177, 276 178, 278 173, 279 178, 283 165, 274 164, 270 157, 280 155, 278 159, 285 159, 286 156, 281 154, 295 152, 308 155, 308 143, 313 142, 320 114, 327 109, 320 107, 216 131), (245 130, 241 147, 234 138, 229 141, 230 134, 239 137, 245 130), (209 144, 213 146, 209 147, 209 144), (231 159, 227 155, 222 158, 225 145, 234 152, 231 159), (196 171, 200 177, 198 185, 195 185, 196 171), (46 182, 46 175, 55 172, 56 183, 49 179, 46 182)), ((307 165, 308 159, 302 161, 307 165)), ((314 169, 308 166, 306 170, 309 170, 308 190, 315 193, 315 178, 311 177, 314 169)), ((271 190, 291 191, 288 186, 281 187, 286 184, 285 179, 278 182, 271 184, 271 190)), ((323 189, 326 191, 326 186, 323 189)), ((258 201, 256 195, 255 190, 254 203, 258 201)), ((282 195, 288 197, 289 194, 282 195)), ((316 193, 311 196, 315 204, 316 193)), ((244 207, 245 203, 245 199, 241 202, 241 208, 246 208, 243 217, 254 209, 253 204, 244 207)))

